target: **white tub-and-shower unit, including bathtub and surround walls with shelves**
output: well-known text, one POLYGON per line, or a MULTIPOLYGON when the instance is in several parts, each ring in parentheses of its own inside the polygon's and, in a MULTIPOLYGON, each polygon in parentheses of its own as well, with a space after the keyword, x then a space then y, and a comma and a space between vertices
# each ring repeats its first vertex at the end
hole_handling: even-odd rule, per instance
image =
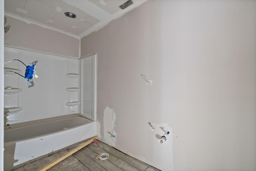
POLYGON ((20 76, 26 66, 4 64, 14 71, 4 72, 5 170, 96 136, 96 55, 74 59, 5 47, 4 62, 13 59, 38 61, 38 78, 28 87, 20 76))

